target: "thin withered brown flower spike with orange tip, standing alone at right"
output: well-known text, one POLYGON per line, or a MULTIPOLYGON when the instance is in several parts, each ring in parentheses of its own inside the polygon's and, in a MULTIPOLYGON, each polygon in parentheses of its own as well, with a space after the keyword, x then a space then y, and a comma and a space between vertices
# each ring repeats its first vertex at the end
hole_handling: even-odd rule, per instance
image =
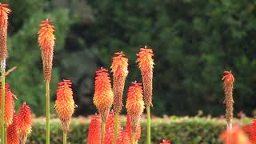
POLYGON ((232 126, 233 119, 233 84, 234 84, 234 76, 230 71, 224 71, 224 76, 222 77, 223 88, 225 93, 225 104, 226 104, 226 122, 228 127, 232 126))

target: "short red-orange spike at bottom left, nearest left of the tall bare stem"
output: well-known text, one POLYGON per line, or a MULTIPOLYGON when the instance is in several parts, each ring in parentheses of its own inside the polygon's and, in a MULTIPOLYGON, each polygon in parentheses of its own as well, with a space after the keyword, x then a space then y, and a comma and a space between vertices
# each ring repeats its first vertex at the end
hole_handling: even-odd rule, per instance
POLYGON ((30 106, 23 102, 17 116, 17 131, 21 137, 22 143, 26 142, 26 137, 31 133, 32 128, 32 113, 30 106))

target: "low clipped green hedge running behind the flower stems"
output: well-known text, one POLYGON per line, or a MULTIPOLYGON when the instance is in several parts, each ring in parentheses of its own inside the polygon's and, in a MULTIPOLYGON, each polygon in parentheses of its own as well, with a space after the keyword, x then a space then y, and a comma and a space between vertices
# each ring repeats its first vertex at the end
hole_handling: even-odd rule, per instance
MULTIPOLYGON (((124 118, 123 118, 124 119, 124 118)), ((28 138, 28 143, 44 143, 45 120, 35 118, 33 131, 28 138)), ((86 143, 89 118, 73 118, 68 134, 68 142, 72 144, 86 143)), ((122 122, 125 124, 125 121, 122 122)), ((218 135, 224 130, 226 124, 223 119, 216 118, 154 118, 151 124, 152 143, 162 139, 171 139, 177 143, 220 143, 218 135)), ((62 143, 62 130, 57 118, 51 120, 50 141, 53 144, 62 143)), ((142 138, 139 143, 146 143, 146 119, 142 118, 142 138)))

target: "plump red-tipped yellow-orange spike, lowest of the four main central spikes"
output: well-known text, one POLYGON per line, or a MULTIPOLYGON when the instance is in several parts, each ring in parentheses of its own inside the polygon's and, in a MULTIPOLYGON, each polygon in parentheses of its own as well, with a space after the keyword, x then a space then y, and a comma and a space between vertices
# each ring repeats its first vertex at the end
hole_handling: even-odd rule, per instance
POLYGON ((131 129, 134 132, 145 108, 142 97, 142 83, 132 82, 132 86, 129 86, 128 89, 126 109, 130 116, 131 129))

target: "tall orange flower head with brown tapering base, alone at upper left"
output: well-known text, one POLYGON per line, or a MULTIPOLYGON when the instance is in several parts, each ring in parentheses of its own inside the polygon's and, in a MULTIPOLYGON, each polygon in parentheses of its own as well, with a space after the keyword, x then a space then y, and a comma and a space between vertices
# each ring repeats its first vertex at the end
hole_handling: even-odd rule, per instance
POLYGON ((50 25, 50 19, 42 21, 38 31, 38 43, 42 50, 42 65, 46 81, 50 81, 54 58, 54 26, 50 25))

